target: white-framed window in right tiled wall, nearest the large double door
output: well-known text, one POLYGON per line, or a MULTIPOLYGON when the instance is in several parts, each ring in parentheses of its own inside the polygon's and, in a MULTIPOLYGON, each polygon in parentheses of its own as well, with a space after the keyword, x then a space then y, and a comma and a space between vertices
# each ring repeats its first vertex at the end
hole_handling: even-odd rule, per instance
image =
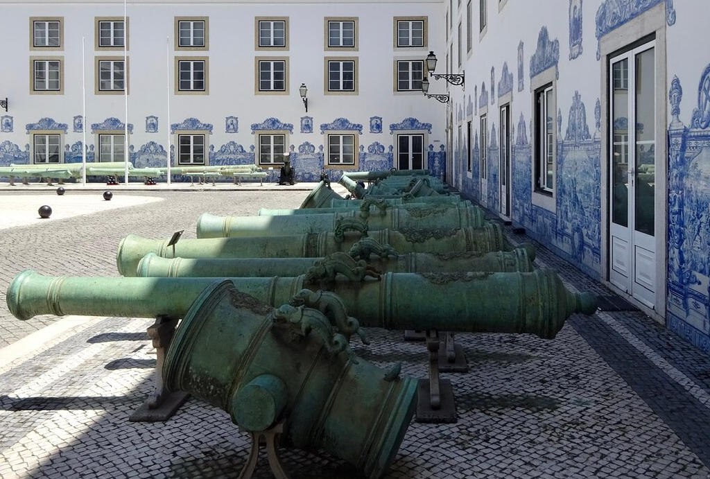
POLYGON ((535 189, 555 188, 555 99, 552 84, 535 90, 535 189))

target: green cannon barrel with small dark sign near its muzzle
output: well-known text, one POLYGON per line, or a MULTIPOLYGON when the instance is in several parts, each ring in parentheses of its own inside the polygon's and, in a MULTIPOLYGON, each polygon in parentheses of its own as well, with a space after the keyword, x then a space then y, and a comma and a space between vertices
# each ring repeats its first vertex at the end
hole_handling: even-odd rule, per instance
MULTIPOLYGON (((348 251, 360 244, 361 236, 343 228, 334 233, 307 233, 296 236, 267 238, 182 239, 168 246, 168 239, 157 240, 126 236, 119 244, 116 265, 121 275, 134 275, 138 261, 148 253, 163 258, 322 258, 348 251)), ((363 233, 363 231, 360 231, 363 233)), ((368 238, 389 245, 398 253, 488 253, 510 251, 501 226, 489 223, 481 228, 449 230, 409 229, 369 231, 368 238)), ((530 247, 528 253, 534 251, 530 247)), ((531 259, 532 256, 530 257, 531 259)))

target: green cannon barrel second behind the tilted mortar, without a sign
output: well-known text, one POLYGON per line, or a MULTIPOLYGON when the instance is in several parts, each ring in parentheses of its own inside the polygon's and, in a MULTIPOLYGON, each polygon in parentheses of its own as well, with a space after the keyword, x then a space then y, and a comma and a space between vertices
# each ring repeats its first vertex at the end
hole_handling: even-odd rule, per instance
MULTIPOLYGON (((346 253, 337 253, 344 255, 346 253)), ((148 253, 138 263, 138 277, 269 277, 298 276, 327 258, 160 258, 148 253)), ((524 248, 486 254, 432 255, 409 253, 368 261, 379 272, 532 271, 524 248)), ((132 274, 129 276, 133 276, 132 274)))

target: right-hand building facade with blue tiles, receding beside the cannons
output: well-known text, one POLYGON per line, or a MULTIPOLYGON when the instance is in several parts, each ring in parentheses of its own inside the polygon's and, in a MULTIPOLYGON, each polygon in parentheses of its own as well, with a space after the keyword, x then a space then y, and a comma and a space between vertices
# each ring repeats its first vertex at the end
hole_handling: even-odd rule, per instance
POLYGON ((703 0, 446 0, 450 181, 710 351, 703 0))

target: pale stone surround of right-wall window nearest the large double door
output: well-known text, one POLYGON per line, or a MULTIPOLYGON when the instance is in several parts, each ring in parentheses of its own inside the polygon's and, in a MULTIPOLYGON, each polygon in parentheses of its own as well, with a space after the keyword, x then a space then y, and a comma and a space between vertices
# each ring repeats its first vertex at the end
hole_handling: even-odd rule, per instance
POLYGON ((531 191, 532 191, 532 204, 537 207, 547 209, 552 213, 557 212, 557 65, 552 65, 552 67, 547 70, 538 73, 535 77, 530 79, 530 92, 532 92, 532 131, 530 131, 530 149, 532 158, 532 175, 530 178, 531 191), (537 184, 537 164, 536 162, 540 160, 537 158, 537 151, 535 150, 535 138, 537 136, 537 124, 535 124, 535 112, 537 111, 537 90, 545 87, 545 85, 550 85, 552 87, 552 111, 555 112, 555 121, 553 121, 552 131, 555 133, 555 140, 552 142, 554 148, 552 148, 552 161, 555 165, 555 174, 552 175, 552 192, 542 192, 538 189, 537 184))

